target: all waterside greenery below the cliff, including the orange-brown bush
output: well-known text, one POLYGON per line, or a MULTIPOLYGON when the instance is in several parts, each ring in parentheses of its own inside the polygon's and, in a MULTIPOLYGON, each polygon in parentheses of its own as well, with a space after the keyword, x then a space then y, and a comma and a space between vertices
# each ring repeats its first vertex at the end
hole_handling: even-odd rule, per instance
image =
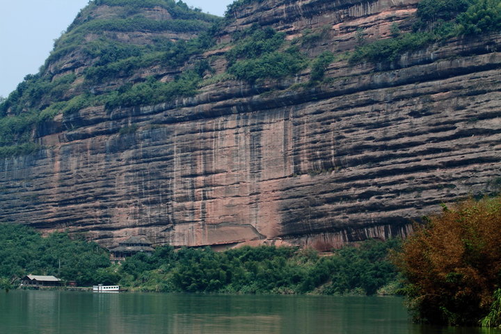
POLYGON ((166 245, 111 264, 108 250, 83 236, 42 237, 16 224, 0 225, 0 244, 3 289, 32 273, 143 292, 403 294, 415 321, 501 324, 501 196, 443 205, 404 241, 371 239, 327 256, 290 246, 166 245))

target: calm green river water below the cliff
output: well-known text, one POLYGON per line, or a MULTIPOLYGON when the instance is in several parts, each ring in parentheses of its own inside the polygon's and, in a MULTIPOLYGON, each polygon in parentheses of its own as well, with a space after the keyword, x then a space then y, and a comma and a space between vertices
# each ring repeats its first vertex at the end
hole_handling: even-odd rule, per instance
POLYGON ((0 293, 0 333, 495 333, 412 324, 397 297, 0 293))

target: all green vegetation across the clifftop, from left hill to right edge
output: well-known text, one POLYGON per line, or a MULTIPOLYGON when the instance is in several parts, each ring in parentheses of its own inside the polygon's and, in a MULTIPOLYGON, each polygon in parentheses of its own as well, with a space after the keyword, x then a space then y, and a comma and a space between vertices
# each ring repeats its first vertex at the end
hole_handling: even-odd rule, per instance
POLYGON ((501 29, 500 0, 422 0, 411 19, 413 31, 402 32, 393 24, 392 38, 368 44, 358 31, 360 45, 348 56, 333 50, 307 56, 308 48, 328 38, 330 26, 315 32, 305 29, 289 41, 285 33, 255 24, 230 34, 230 48, 223 51, 225 68, 213 76, 211 64, 221 66, 223 56, 207 57, 205 52, 217 45, 223 25, 232 22, 238 8, 260 1, 234 1, 225 19, 175 0, 90 1, 55 41, 40 72, 27 75, 0 101, 0 156, 40 149, 33 144, 37 130, 61 113, 68 116, 89 106, 113 109, 173 102, 214 82, 269 84, 308 67, 310 81, 291 89, 314 86, 325 82, 328 65, 336 60, 396 61, 404 52, 434 42, 501 29))

